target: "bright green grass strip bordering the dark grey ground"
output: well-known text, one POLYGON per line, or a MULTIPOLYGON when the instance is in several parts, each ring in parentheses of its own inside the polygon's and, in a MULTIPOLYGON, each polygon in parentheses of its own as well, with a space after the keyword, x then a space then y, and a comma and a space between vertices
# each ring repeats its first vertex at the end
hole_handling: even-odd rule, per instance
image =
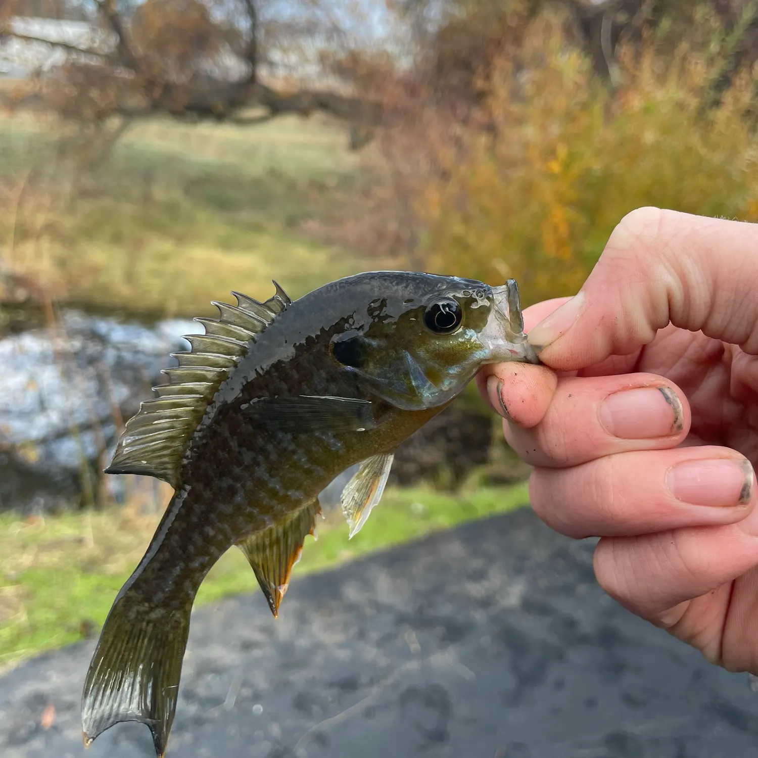
MULTIPOLYGON (((352 540, 339 512, 319 522, 318 540, 306 538, 294 577, 526 503, 526 484, 460 496, 387 490, 352 540)), ((0 515, 0 666, 77 641, 83 628, 99 630, 158 518, 134 506, 27 521, 0 515)), ((255 578, 233 549, 205 578, 197 605, 251 591, 259 591, 255 578)))

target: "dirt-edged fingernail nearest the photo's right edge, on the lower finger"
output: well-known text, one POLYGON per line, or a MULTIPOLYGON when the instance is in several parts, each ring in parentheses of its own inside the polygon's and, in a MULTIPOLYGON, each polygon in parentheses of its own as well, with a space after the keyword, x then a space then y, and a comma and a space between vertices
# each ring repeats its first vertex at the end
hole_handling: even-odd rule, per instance
POLYGON ((666 487, 692 506, 745 506, 753 495, 753 467, 746 459, 684 461, 666 472, 666 487))

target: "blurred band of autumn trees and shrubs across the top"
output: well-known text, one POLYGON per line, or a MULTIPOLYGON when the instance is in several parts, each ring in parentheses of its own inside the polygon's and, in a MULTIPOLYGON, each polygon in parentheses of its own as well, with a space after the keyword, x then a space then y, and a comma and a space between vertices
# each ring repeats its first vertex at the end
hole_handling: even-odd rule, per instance
POLYGON ((526 302, 575 292, 641 205, 758 220, 754 2, 377 0, 396 23, 384 46, 356 36, 362 3, 343 6, 355 15, 342 27, 329 3, 297 0, 283 17, 275 5, 103 0, 108 44, 72 52, 46 102, 83 125, 96 166, 119 120, 252 130, 327 114, 370 147, 325 240, 383 266, 515 277, 526 302), (241 74, 224 73, 230 57, 241 74), (290 59, 320 78, 285 75, 289 64, 271 78, 271 61, 290 59))

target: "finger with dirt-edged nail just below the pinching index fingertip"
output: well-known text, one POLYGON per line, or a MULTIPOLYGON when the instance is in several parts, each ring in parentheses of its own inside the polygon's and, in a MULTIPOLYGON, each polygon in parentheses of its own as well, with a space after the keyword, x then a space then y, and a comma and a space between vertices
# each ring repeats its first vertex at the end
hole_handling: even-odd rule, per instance
MULTIPOLYGON (((494 382, 489 389, 497 390, 494 382)), ((509 411, 511 390, 503 401, 509 411)), ((503 426, 525 462, 565 468, 629 450, 675 447, 687 437, 690 422, 678 387, 655 374, 627 374, 559 377, 539 423, 524 428, 506 420, 503 426)))

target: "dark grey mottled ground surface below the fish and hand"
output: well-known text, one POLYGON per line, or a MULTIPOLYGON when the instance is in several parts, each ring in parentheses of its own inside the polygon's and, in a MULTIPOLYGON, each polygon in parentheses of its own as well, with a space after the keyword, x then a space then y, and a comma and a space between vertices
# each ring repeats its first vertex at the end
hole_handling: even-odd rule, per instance
MULTIPOLYGON (((758 756, 745 675, 605 597, 592 548, 525 510, 295 581, 278 621, 261 594, 205 606, 168 756, 758 756)), ((93 646, 0 678, 3 758, 84 755, 78 705, 93 646)), ((87 753, 152 755, 136 724, 87 753)))

